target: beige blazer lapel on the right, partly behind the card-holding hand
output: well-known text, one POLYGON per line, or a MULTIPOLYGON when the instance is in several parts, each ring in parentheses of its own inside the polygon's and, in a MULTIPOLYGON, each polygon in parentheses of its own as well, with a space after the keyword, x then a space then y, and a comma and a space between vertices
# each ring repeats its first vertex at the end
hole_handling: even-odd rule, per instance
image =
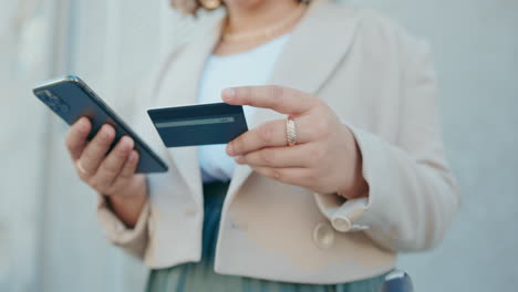
MULTIPOLYGON (((281 85, 318 95, 321 86, 345 56, 356 31, 358 18, 354 9, 343 9, 343 4, 340 8, 336 9, 336 4, 327 0, 314 1, 310 6, 280 54, 268 85, 281 85)), ((249 126, 253 128, 279 118, 286 116, 258 108, 249 126)), ((251 173, 249 166, 236 167, 227 195, 228 201, 231 201, 251 173)))

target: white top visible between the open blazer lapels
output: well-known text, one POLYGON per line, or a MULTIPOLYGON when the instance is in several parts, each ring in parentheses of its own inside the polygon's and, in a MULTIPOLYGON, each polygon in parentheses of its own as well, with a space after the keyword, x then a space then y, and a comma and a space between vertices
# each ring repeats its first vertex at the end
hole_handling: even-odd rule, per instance
MULTIPOLYGON (((221 91, 226 87, 265 85, 288 39, 289 34, 284 34, 244 53, 209 56, 199 82, 198 103, 220 103, 221 91)), ((245 117, 250 121, 253 108, 245 106, 244 111, 245 117)), ((226 146, 198 147, 204 182, 228 181, 232 177, 236 163, 225 152, 226 146)))

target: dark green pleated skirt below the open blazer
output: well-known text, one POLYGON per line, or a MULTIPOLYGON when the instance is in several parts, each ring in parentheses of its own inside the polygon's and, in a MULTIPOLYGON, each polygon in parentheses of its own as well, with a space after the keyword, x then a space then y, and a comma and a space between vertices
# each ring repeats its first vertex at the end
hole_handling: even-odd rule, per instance
POLYGON ((322 285, 276 282, 215 273, 216 241, 228 185, 228 182, 204 185, 205 216, 201 261, 152 270, 147 280, 147 292, 380 292, 385 274, 350 283, 322 285))

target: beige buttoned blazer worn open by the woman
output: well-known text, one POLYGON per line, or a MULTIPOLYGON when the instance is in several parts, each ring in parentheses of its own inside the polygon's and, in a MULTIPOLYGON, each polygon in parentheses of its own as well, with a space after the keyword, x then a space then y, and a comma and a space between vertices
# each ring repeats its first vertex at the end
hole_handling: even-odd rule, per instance
MULTIPOLYGON (((175 50, 138 101, 134 126, 170 169, 148 176, 151 198, 137 226, 125 229, 100 204, 110 240, 149 268, 200 260, 204 210, 196 148, 165 148, 145 109, 196 103, 204 61, 219 32, 217 25, 175 50)), ((238 166, 222 209, 216 272, 349 282, 388 271, 397 251, 441 242, 459 196, 444 157, 436 81, 424 42, 372 11, 315 1, 269 84, 319 96, 352 128, 369 199, 312 194, 238 166)), ((249 126, 282 117, 258 109, 249 126)))

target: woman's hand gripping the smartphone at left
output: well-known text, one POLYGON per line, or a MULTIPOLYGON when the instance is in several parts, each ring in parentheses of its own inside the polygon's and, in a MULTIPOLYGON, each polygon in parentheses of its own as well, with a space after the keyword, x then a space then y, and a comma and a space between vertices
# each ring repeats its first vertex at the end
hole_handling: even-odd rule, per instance
POLYGON ((97 192, 107 196, 110 204, 126 226, 133 227, 147 200, 144 175, 135 173, 138 153, 134 142, 123 136, 108 153, 115 129, 105 124, 89 142, 92 123, 82 117, 66 134, 66 148, 81 180, 97 192))

